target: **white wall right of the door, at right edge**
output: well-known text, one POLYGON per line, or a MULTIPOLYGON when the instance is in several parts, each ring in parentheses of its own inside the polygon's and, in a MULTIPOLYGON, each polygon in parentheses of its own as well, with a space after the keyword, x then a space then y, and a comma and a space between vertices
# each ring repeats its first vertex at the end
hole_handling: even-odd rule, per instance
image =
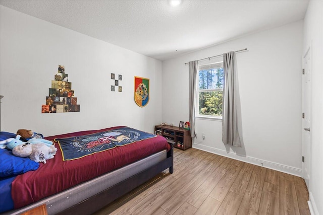
MULTIPOLYGON (((310 1, 304 19, 303 54, 311 46, 312 58, 312 150, 310 206, 323 214, 323 2, 310 1)), ((312 211, 312 212, 313 212, 312 211)))

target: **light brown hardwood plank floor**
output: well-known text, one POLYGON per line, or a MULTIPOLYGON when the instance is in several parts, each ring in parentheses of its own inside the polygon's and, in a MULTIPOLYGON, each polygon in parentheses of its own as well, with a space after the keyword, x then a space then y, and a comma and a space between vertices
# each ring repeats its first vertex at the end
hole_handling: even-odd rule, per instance
POLYGON ((196 149, 174 149, 174 173, 147 183, 94 213, 310 214, 302 178, 196 149))

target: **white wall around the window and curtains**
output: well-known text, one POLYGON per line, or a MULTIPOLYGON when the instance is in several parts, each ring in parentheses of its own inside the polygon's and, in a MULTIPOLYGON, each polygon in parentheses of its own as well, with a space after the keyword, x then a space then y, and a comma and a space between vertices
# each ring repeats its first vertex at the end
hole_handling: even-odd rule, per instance
POLYGON ((236 54, 243 147, 222 143, 221 121, 200 119, 193 147, 301 175, 302 41, 303 21, 298 21, 164 61, 163 121, 188 120, 185 62, 248 48, 236 54))

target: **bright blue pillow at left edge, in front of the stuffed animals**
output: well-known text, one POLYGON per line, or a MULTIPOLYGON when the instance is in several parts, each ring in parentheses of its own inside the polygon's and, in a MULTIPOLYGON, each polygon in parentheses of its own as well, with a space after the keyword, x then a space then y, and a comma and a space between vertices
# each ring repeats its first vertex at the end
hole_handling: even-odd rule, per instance
POLYGON ((0 177, 9 177, 23 174, 25 172, 36 170, 39 163, 29 158, 20 158, 12 154, 11 151, 0 149, 0 177))

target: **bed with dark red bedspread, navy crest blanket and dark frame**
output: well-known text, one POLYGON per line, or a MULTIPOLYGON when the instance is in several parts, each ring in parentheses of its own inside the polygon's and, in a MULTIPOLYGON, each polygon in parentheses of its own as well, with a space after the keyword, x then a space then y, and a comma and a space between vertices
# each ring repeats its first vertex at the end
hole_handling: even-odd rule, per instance
POLYGON ((163 136, 133 128, 119 126, 45 139, 56 142, 57 154, 46 164, 36 163, 36 170, 1 179, 6 185, 0 184, 0 189, 7 193, 0 195, 8 196, 10 189, 8 197, 15 208, 1 214, 20 214, 44 203, 48 214, 90 214, 166 169, 173 173, 173 145, 163 136), (68 145, 79 153, 68 152, 68 145))

